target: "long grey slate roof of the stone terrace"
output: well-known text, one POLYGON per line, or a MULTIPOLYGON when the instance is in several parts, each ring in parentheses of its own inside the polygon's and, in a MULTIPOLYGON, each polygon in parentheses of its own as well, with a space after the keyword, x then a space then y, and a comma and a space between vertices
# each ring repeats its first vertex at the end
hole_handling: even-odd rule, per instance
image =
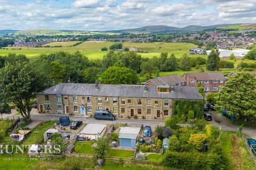
POLYGON ((202 100, 198 87, 187 86, 175 86, 174 92, 157 92, 157 86, 147 86, 145 90, 143 85, 99 84, 97 89, 95 84, 60 83, 38 94, 202 100))

